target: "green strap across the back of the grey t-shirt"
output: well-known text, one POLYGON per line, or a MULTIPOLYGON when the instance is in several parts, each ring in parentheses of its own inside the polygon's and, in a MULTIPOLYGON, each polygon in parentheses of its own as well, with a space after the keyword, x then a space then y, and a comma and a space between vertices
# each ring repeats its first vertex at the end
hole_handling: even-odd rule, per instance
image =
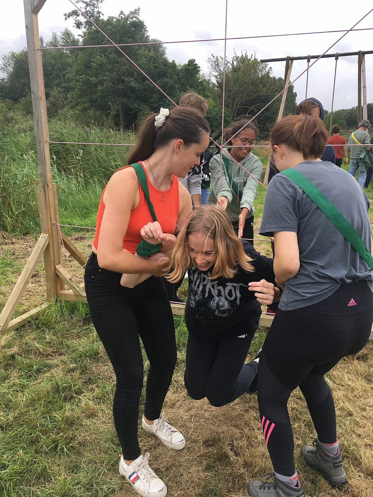
POLYGON ((366 247, 358 232, 347 221, 347 219, 339 212, 339 210, 328 200, 325 195, 306 178, 301 172, 296 169, 289 168, 281 171, 291 181, 300 186, 309 198, 317 205, 317 207, 325 214, 325 216, 334 224, 348 242, 355 248, 359 255, 366 261, 369 267, 373 270, 373 257, 366 247))

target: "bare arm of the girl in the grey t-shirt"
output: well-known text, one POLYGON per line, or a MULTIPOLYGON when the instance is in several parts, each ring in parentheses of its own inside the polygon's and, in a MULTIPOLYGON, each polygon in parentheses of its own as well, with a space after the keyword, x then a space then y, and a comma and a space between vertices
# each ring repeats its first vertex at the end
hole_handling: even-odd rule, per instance
POLYGON ((274 271, 276 282, 283 285, 299 271, 299 248, 296 233, 276 231, 274 271))

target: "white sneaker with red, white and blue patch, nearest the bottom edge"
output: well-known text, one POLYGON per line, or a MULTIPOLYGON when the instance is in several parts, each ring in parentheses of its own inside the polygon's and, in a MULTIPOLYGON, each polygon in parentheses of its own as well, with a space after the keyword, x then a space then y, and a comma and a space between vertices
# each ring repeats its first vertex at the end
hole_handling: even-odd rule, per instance
POLYGON ((124 462, 123 456, 119 462, 119 473, 129 481, 138 494, 143 497, 165 497, 166 485, 150 469, 149 452, 145 456, 139 456, 129 466, 124 462))

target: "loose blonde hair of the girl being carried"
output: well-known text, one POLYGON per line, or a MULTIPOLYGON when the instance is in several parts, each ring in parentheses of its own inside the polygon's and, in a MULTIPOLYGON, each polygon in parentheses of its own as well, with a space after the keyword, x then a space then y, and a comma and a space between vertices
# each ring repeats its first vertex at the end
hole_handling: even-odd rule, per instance
POLYGON ((214 264, 211 279, 223 276, 233 278, 237 265, 248 272, 253 272, 251 259, 244 251, 232 227, 228 214, 218 205, 202 205, 196 207, 188 216, 180 230, 176 246, 170 257, 170 267, 174 270, 167 276, 171 282, 179 281, 187 269, 194 265, 193 258, 188 254, 188 236, 192 233, 203 233, 215 240, 217 259, 214 264))

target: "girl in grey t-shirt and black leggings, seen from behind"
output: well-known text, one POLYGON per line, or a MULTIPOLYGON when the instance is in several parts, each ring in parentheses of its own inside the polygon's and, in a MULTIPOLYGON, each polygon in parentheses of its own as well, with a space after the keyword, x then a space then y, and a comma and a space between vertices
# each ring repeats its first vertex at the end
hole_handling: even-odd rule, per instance
MULTIPOLYGON (((368 198, 347 171, 318 159, 327 139, 317 117, 283 118, 271 133, 276 166, 306 176, 371 250, 368 198)), ((274 480, 252 480, 248 493, 262 497, 273 490, 302 497, 287 401, 299 386, 317 432, 314 445, 304 446, 301 454, 331 485, 344 485, 334 401, 324 374, 368 341, 373 273, 316 204, 281 173, 268 187, 260 233, 275 238, 274 271, 284 291, 258 369, 259 412, 274 480)))

